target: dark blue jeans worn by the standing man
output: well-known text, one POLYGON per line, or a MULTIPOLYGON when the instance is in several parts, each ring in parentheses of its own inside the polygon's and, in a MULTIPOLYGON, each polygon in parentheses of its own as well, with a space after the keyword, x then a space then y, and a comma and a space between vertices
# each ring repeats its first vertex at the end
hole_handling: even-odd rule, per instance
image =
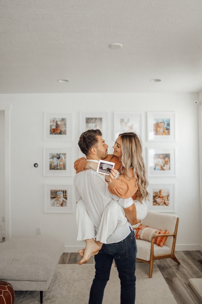
POLYGON ((89 304, 102 304, 107 281, 113 259, 119 272, 121 284, 121 304, 135 303, 135 266, 137 246, 135 233, 131 233, 122 241, 112 244, 103 244, 101 250, 95 255, 95 278, 90 289, 89 304))

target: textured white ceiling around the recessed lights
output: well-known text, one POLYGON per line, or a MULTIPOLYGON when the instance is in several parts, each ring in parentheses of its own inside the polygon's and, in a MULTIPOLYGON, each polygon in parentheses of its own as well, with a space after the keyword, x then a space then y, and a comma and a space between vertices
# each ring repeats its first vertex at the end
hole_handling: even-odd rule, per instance
POLYGON ((202 1, 1 0, 0 58, 0 93, 199 92, 202 1))

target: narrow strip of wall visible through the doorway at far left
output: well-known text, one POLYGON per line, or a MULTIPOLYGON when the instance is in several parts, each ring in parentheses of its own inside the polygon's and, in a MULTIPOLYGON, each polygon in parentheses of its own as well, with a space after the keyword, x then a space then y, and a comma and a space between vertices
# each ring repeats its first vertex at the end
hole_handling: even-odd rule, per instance
POLYGON ((5 223, 2 223, 2 216, 5 216, 5 168, 4 168, 4 130, 5 117, 4 111, 0 111, 0 225, 2 226, 2 236, 5 237, 5 223))

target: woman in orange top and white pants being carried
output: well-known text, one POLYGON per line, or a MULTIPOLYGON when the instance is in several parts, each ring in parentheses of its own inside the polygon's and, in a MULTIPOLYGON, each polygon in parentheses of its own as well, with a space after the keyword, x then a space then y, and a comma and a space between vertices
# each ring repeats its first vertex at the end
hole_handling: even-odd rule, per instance
MULTIPOLYGON (((122 133, 117 138, 113 148, 114 153, 112 155, 108 155, 105 159, 106 161, 115 163, 114 169, 111 170, 111 173, 109 175, 105 175, 109 192, 124 199, 132 197, 136 206, 137 219, 141 220, 146 216, 147 208, 145 201, 148 200, 149 197, 149 193, 146 190, 148 186, 148 180, 146 178, 146 169, 142 157, 141 141, 136 133, 122 133), (120 176, 118 178, 116 178, 118 172, 115 169, 119 171, 120 176)), ((75 161, 74 168, 76 169, 76 173, 89 168, 92 168, 96 171, 97 164, 94 162, 88 162, 85 158, 80 158, 79 160, 75 161)), ((118 203, 113 202, 113 206, 111 206, 110 203, 106 207, 100 223, 100 231, 98 231, 96 235, 96 243, 99 244, 100 248, 102 247, 102 243, 105 243, 103 240, 107 239, 107 237, 112 233, 111 231, 108 231, 107 225, 109 223, 108 219, 110 219, 110 225, 112 226, 110 212, 113 213, 115 208, 116 212, 118 212, 120 215, 120 222, 122 223, 122 221, 127 220, 123 215, 123 209, 121 209, 118 203), (103 231, 105 232, 104 235, 103 231)), ((78 222, 83 223, 85 210, 83 209, 81 213, 82 217, 79 220, 79 215, 77 214, 77 219, 78 222)), ((138 222, 140 221, 137 221, 137 223, 138 222)), ((117 223, 114 223, 114 225, 117 225, 117 223)), ((114 229, 115 228, 116 226, 114 229)), ((82 233, 83 230, 85 230, 85 227, 79 229, 79 233, 82 233)), ((77 240, 83 239, 82 237, 79 239, 78 235, 77 240)), ((86 256, 83 255, 84 249, 79 250, 79 254, 82 257, 82 260, 79 261, 79 264, 85 263, 86 256)))

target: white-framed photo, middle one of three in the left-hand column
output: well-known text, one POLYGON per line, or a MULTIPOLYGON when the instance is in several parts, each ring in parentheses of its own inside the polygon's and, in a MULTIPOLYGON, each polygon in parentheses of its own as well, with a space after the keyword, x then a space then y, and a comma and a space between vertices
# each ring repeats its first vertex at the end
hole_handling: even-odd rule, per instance
POLYGON ((71 148, 43 148, 43 176, 72 176, 71 148))

